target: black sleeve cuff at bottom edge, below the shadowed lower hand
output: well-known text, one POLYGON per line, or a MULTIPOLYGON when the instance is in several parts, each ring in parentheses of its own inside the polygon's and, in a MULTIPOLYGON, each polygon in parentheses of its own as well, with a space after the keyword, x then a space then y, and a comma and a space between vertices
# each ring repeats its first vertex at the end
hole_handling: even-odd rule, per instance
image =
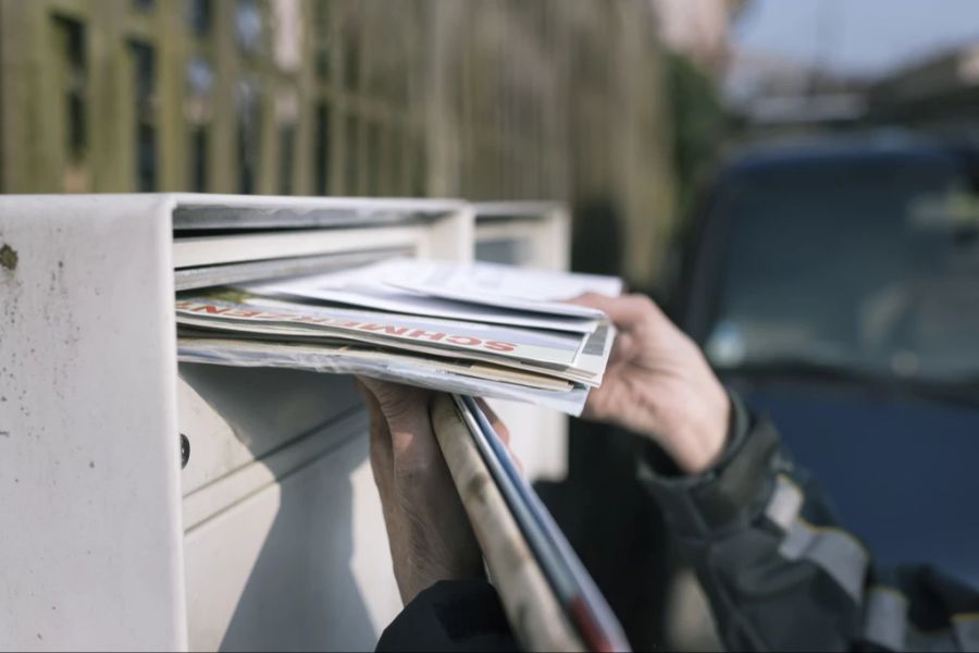
POLYGON ((485 580, 443 580, 405 606, 377 651, 519 651, 496 590, 485 580))

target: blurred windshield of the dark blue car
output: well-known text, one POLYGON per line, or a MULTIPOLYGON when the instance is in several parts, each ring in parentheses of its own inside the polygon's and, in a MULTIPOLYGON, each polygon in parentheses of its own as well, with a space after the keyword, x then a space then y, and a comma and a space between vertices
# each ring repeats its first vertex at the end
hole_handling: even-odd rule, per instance
POLYGON ((979 378, 979 202, 951 160, 814 159, 736 178, 711 221, 711 362, 979 378))

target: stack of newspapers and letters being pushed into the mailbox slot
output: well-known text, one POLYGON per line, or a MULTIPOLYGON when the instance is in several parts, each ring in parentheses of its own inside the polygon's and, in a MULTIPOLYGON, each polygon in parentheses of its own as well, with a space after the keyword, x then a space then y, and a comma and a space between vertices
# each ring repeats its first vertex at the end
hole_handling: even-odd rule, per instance
POLYGON ((176 299, 187 362, 355 373, 580 415, 615 329, 584 292, 618 279, 394 259, 176 299))

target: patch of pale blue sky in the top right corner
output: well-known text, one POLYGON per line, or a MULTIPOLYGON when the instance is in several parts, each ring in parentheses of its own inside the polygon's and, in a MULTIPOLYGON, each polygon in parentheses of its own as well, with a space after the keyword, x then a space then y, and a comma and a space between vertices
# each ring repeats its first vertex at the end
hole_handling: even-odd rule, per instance
POLYGON ((879 75, 957 44, 979 45, 979 0, 749 0, 731 36, 745 51, 879 75))

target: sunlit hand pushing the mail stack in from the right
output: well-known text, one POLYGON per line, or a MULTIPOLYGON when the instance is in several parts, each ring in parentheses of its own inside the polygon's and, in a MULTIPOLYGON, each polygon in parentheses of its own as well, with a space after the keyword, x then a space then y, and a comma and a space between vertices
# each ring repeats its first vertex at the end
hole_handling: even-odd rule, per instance
POLYGON ((652 438, 686 473, 709 467, 724 446, 731 401, 697 345, 645 295, 572 301, 605 311, 619 330, 584 416, 652 438))

